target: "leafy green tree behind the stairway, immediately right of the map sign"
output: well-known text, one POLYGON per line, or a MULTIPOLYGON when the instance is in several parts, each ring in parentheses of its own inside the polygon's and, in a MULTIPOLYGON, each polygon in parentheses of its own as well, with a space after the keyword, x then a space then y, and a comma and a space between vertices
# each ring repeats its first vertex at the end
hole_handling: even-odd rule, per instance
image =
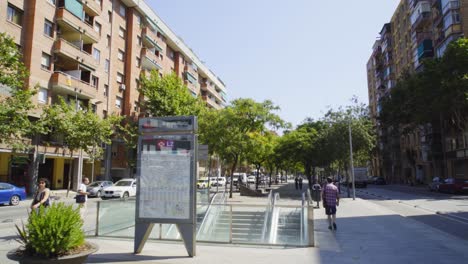
POLYGON ((249 134, 266 132, 267 127, 277 129, 288 126, 273 113, 278 109, 279 107, 268 100, 257 103, 252 99, 236 99, 230 106, 219 110, 218 114, 208 114, 213 119, 209 123, 204 123, 204 131, 201 132, 209 148, 232 164, 230 198, 232 198, 233 173, 241 157, 246 155, 249 134))

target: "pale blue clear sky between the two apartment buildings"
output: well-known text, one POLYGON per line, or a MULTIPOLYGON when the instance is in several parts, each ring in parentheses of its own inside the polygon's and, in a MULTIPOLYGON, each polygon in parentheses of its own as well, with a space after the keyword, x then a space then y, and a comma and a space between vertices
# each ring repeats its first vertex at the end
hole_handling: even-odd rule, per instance
POLYGON ((226 84, 294 127, 368 104, 366 64, 399 0, 146 0, 226 84))

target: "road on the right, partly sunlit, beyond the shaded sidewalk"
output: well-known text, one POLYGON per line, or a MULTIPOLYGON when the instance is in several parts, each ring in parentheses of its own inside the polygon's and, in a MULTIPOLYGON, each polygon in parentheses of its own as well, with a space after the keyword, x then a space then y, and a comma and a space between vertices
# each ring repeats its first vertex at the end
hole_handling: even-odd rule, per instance
POLYGON ((468 195, 429 192, 426 188, 399 185, 356 189, 360 198, 372 201, 404 217, 468 240, 468 195))

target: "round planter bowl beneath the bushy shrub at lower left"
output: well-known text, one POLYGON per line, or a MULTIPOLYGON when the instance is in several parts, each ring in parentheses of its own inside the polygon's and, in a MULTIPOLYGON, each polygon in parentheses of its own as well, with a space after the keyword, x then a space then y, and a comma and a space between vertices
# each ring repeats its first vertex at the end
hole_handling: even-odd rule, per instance
POLYGON ((18 261, 20 264, 82 264, 86 262, 86 259, 89 255, 93 254, 99 249, 98 245, 94 243, 85 243, 90 246, 88 250, 58 258, 41 258, 37 256, 18 255, 18 249, 14 249, 8 252, 7 257, 10 260, 18 261))

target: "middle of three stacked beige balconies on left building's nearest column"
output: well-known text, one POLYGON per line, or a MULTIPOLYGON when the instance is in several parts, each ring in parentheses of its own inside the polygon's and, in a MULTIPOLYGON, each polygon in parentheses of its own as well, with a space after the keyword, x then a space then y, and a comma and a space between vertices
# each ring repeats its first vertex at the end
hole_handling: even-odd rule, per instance
POLYGON ((98 66, 96 60, 91 56, 91 54, 81 50, 77 45, 61 38, 55 41, 54 53, 58 53, 75 60, 78 63, 87 66, 91 70, 95 70, 98 66))

